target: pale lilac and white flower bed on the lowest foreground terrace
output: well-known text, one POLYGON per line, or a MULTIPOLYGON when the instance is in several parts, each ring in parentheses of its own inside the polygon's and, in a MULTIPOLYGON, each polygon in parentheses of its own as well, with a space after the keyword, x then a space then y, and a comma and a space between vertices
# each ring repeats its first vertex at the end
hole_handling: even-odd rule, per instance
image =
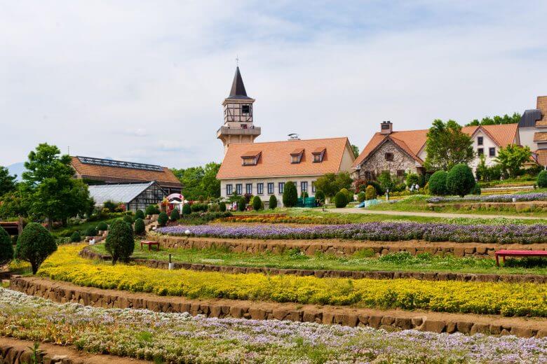
POLYGON ((547 363, 546 338, 100 309, 2 288, 0 311, 0 335, 156 363, 547 363))

